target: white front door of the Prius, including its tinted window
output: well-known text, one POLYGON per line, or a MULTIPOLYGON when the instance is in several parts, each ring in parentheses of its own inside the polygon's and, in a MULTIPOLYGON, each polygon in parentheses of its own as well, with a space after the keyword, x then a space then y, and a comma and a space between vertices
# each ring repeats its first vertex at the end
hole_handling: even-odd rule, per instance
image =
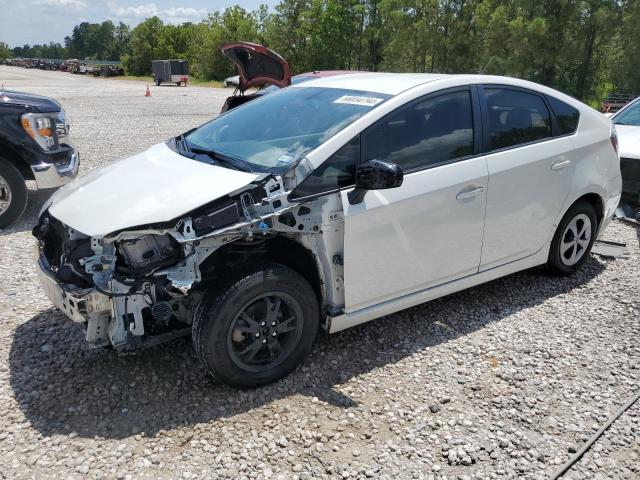
POLYGON ((478 271, 488 175, 473 93, 429 95, 363 133, 361 161, 394 162, 404 182, 357 205, 342 192, 347 313, 478 271))

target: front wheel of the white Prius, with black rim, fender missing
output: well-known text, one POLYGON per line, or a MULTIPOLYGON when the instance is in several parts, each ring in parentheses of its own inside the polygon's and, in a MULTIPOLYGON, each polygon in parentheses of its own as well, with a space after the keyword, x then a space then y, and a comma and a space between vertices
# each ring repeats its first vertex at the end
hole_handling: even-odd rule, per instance
POLYGON ((284 377, 311 350, 320 309, 309 283, 284 265, 256 266, 205 294, 193 345, 217 380, 252 388, 284 377))

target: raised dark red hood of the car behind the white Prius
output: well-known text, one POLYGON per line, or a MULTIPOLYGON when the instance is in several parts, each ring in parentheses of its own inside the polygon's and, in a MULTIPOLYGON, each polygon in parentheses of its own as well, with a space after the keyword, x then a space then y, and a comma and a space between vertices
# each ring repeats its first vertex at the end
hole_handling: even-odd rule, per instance
POLYGON ((222 46, 222 53, 238 67, 238 88, 244 92, 260 85, 283 88, 291 84, 289 63, 257 43, 234 42, 222 46))

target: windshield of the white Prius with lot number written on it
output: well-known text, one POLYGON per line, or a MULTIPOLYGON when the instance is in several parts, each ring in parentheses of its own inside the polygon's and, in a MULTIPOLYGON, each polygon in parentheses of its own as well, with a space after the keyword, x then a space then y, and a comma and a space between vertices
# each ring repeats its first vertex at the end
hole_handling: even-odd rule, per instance
POLYGON ((254 172, 283 173, 389 95, 337 88, 285 88, 257 98, 185 135, 254 172))

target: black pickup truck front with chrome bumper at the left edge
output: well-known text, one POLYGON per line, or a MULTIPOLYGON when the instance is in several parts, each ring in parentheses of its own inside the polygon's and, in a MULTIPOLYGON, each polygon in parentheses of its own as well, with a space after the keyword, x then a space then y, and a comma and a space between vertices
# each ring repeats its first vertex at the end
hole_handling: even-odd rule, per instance
POLYGON ((17 220, 27 206, 25 180, 46 190, 76 177, 79 157, 65 141, 68 133, 55 100, 0 90, 0 227, 17 220))

